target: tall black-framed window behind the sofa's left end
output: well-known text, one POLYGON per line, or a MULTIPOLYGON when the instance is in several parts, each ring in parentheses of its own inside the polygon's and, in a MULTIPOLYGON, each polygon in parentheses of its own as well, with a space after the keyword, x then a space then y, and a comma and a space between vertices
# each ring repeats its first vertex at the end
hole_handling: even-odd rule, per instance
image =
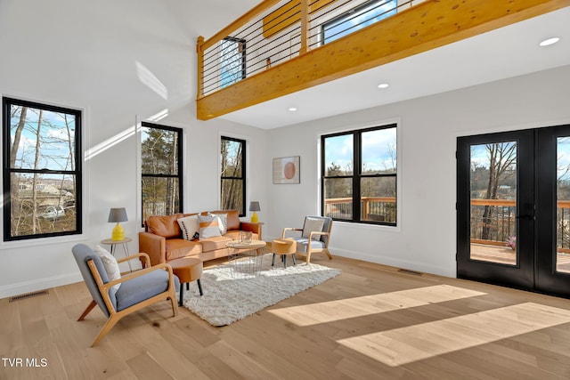
POLYGON ((142 221, 183 208, 182 129, 142 123, 142 221))

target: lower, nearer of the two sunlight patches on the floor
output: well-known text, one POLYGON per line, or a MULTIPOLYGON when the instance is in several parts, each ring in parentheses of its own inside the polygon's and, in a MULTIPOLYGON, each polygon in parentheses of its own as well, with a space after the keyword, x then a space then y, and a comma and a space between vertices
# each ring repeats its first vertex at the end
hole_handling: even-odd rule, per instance
POLYGON ((338 344, 395 367, 569 322, 568 310, 520 303, 346 338, 338 344))

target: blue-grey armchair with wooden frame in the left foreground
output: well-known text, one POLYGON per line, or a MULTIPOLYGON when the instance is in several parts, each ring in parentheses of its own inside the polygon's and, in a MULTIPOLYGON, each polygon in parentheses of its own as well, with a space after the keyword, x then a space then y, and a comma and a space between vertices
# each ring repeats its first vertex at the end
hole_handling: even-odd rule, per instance
POLYGON ((96 305, 99 305, 103 314, 108 318, 99 335, 91 344, 92 347, 98 344, 121 318, 134 311, 139 311, 151 303, 169 300, 172 304, 174 316, 178 314, 176 289, 180 286, 180 281, 172 272, 170 265, 163 263, 151 267, 149 255, 130 255, 117 262, 123 263, 127 260, 137 259, 145 261, 147 267, 110 281, 101 257, 91 247, 85 246, 85 244, 77 244, 71 251, 85 280, 85 285, 93 297, 93 301, 89 303, 77 320, 85 319, 96 305), (115 293, 111 287, 117 284, 121 284, 121 286, 115 293))

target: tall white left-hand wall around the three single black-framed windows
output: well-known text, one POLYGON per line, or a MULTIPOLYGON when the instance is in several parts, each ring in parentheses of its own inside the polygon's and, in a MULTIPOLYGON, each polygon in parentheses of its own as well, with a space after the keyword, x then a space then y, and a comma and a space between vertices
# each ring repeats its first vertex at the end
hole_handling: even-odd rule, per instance
MULTIPOLYGON (((236 8, 241 12, 256 1, 245 3, 236 8)), ((168 116, 159 123, 182 127, 186 137, 185 211, 218 208, 221 134, 248 141, 248 200, 268 203, 263 183, 269 174, 259 159, 267 155, 266 133, 195 117, 196 38, 216 33, 240 13, 228 18, 226 9, 204 9, 198 0, 169 5, 0 0, 0 95, 84 109, 84 147, 97 152, 85 161, 83 236, 0 242, 0 298, 80 280, 71 247, 110 238, 110 207, 126 207, 129 221, 121 224, 133 239, 130 252, 137 252, 134 125, 165 109, 168 116)))

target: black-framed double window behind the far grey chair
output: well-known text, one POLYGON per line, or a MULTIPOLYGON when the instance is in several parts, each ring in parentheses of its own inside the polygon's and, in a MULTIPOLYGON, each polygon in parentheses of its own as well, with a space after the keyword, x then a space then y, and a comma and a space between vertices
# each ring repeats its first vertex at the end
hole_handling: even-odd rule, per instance
POLYGON ((322 214, 396 224, 396 125, 322 136, 322 214))

